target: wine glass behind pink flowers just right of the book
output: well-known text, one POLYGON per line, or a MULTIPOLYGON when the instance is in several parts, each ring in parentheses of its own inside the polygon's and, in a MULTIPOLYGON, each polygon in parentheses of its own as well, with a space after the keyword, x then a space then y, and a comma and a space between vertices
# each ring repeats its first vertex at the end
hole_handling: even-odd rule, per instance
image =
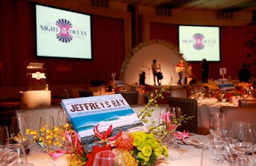
POLYGON ((170 140, 168 141, 168 146, 173 148, 180 147, 177 142, 176 138, 173 135, 175 133, 176 129, 179 127, 181 123, 181 109, 180 107, 167 107, 166 112, 170 112, 171 115, 169 117, 170 124, 167 125, 167 132, 170 134, 170 140))

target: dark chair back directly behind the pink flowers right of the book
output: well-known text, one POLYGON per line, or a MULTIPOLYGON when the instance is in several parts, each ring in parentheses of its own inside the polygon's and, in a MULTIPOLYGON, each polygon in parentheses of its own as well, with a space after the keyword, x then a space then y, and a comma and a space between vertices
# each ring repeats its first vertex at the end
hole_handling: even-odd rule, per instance
POLYGON ((177 131, 184 132, 192 132, 197 133, 198 130, 198 115, 197 115, 197 101, 195 99, 190 98, 174 98, 168 97, 168 104, 170 107, 180 107, 181 114, 188 116, 194 116, 191 120, 189 119, 184 123, 182 121, 181 126, 177 128, 177 131))

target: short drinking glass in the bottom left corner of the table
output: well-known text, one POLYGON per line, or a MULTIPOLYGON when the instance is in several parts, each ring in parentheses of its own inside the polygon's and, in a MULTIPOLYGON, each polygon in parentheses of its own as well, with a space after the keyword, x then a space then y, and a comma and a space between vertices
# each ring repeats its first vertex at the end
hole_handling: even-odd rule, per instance
POLYGON ((6 145, 6 155, 3 156, 3 165, 26 166, 28 165, 26 152, 21 144, 6 145))

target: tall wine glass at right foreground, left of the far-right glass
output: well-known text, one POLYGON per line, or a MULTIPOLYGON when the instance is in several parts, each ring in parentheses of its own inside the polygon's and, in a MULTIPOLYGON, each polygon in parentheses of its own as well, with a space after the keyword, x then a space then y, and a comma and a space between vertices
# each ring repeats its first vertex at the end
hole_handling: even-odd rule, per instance
POLYGON ((212 158, 212 162, 223 163, 225 160, 220 151, 220 141, 227 133, 227 125, 227 119, 224 113, 214 112, 210 115, 209 132, 212 134, 214 144, 218 150, 214 158, 212 158))

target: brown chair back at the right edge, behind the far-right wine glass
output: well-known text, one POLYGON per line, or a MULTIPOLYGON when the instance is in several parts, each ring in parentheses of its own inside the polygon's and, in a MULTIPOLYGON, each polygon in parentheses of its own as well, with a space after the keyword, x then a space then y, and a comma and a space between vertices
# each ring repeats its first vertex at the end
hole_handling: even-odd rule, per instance
POLYGON ((222 106, 220 112, 226 114, 229 127, 231 127, 232 122, 243 121, 251 123, 252 132, 256 132, 256 108, 222 106))

